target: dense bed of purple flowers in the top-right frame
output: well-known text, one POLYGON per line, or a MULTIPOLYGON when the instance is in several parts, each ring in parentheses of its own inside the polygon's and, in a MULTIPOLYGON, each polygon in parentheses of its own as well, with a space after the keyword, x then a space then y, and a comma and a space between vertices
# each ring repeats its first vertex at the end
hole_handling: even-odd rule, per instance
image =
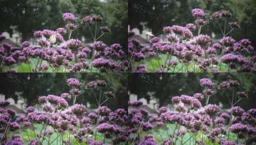
MULTIPOLYGON (((255 72, 256 56, 251 41, 236 41, 228 36, 240 28, 237 22, 232 22, 229 11, 211 15, 223 34, 220 41, 200 33, 207 25, 203 10, 192 10, 192 16, 194 23, 164 27, 167 41, 153 37, 150 46, 141 46, 137 39, 129 40, 128 64, 132 72, 255 72)), ((128 35, 131 37, 134 32, 128 35)))

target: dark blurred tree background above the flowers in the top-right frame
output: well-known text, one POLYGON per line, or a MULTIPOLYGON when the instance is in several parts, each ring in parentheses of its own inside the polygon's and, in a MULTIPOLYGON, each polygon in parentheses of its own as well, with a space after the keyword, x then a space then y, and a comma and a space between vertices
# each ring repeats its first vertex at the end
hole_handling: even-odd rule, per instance
POLYGON ((237 21, 241 30, 231 33, 236 40, 247 38, 256 47, 256 1, 255 0, 128 0, 128 30, 134 30, 143 45, 149 45, 149 36, 160 36, 164 26, 193 23, 191 10, 203 9, 208 24, 201 33, 220 38, 222 33, 216 21, 210 20, 213 12, 230 10, 232 21, 237 21))

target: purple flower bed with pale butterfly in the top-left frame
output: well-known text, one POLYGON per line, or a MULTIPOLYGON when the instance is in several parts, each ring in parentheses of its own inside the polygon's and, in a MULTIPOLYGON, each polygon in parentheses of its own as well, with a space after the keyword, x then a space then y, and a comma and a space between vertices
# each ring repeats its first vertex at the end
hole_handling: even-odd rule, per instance
MULTIPOLYGON (((29 41, 21 44, 21 49, 13 49, 8 43, 0 45, 0 70, 16 72, 15 64, 28 64, 30 72, 124 72, 127 70, 126 54, 118 43, 107 46, 99 39, 110 32, 107 26, 100 26, 99 15, 86 16, 78 22, 72 13, 64 13, 65 28, 56 31, 34 31, 37 45, 29 41), (72 39, 72 32, 85 26, 90 31, 93 42, 85 45, 72 39), (65 37, 67 38, 65 40, 65 37), (33 58, 33 59, 32 59, 33 58), (5 68, 5 69, 4 69, 5 68)), ((5 39, 0 35, 0 41, 5 39)), ((21 66, 22 67, 22 66, 21 66)))

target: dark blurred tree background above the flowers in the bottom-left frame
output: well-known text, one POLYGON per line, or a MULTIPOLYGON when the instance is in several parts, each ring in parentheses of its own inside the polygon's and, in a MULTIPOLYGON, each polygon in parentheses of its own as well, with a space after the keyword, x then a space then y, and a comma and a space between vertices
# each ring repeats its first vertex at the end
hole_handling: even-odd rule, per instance
MULTIPOLYGON (((0 73, 0 101, 8 100, 11 107, 18 113, 24 112, 28 106, 39 105, 38 97, 42 95, 69 93, 67 79, 77 78, 81 83, 81 95, 77 97, 78 104, 87 105, 89 109, 97 108, 93 93, 99 98, 99 91, 86 90, 90 81, 105 80, 106 91, 112 91, 115 99, 106 104, 112 110, 124 108, 127 110, 127 74, 125 73, 0 73)), ((72 104, 70 100, 69 104, 72 104)))

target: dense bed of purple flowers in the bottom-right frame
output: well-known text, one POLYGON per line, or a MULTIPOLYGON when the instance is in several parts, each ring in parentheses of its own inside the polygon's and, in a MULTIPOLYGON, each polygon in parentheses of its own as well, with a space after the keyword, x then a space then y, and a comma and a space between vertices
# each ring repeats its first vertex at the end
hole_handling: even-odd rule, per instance
POLYGON ((158 114, 151 117, 147 110, 139 108, 142 102, 129 103, 129 117, 135 134, 132 145, 256 143, 256 109, 246 112, 236 106, 241 99, 247 97, 245 92, 235 93, 239 91, 240 83, 230 80, 217 85, 210 79, 203 78, 200 85, 203 88, 202 93, 173 96, 172 105, 159 108, 158 114), (231 96, 226 96, 230 101, 230 109, 222 110, 219 105, 209 104, 217 90, 234 92, 231 96))

